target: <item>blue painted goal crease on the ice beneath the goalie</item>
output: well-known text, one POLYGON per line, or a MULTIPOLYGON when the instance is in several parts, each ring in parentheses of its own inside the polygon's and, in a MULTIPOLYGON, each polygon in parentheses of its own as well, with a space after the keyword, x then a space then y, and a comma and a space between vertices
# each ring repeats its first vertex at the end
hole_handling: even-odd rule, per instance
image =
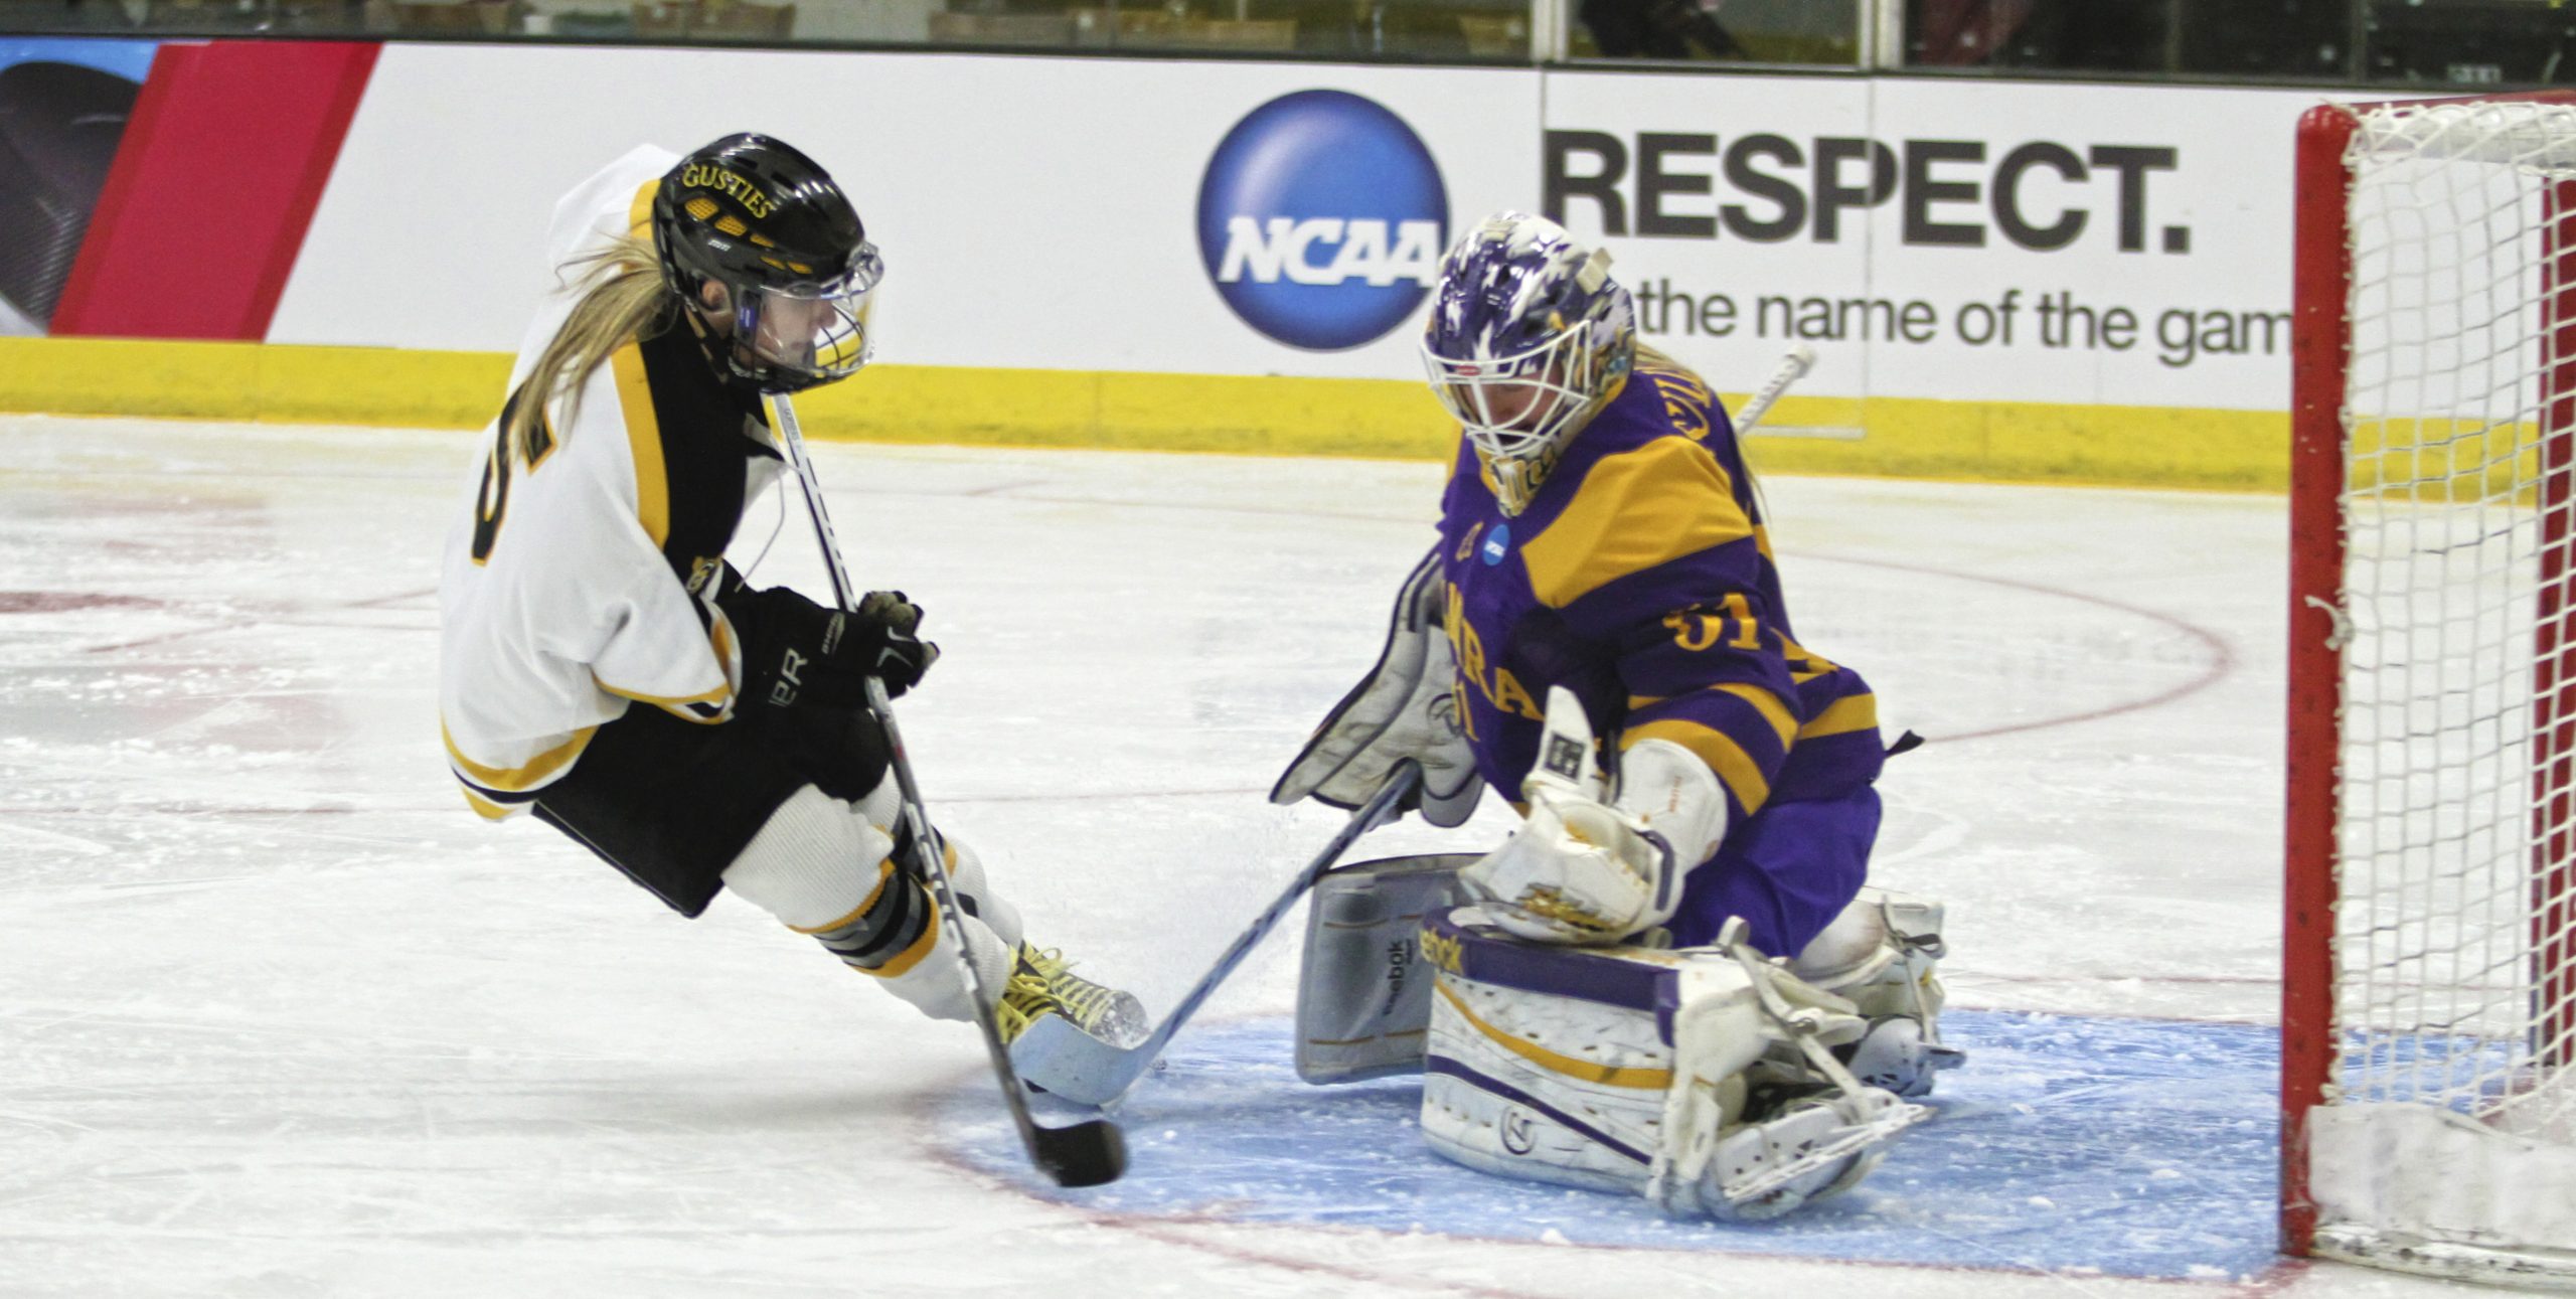
POLYGON ((940 1113, 974 1168, 1115 1214, 2172 1281, 2272 1265, 2272 1028, 1960 1010, 1942 1031, 1971 1067, 1942 1075, 1935 1119, 1850 1196, 1757 1224, 1443 1162, 1417 1126, 1419 1080, 1309 1088, 1285 1018, 1190 1034, 1121 1106, 1136 1162, 1113 1186, 1059 1191, 1025 1170, 984 1095, 940 1113))

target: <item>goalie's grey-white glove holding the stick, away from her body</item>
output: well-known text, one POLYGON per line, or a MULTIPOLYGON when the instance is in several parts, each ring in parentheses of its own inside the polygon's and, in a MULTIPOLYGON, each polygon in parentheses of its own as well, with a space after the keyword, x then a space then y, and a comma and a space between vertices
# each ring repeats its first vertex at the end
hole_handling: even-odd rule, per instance
POLYGON ((1412 758, 1422 763, 1422 820, 1440 827, 1466 825, 1484 794, 1484 778, 1476 776, 1476 753, 1458 727, 1458 701, 1450 696, 1458 668, 1440 616, 1435 546, 1396 593, 1378 665, 1324 714, 1324 724, 1270 789, 1270 802, 1288 807, 1319 799, 1342 809, 1360 807, 1386 781, 1388 768, 1412 758))

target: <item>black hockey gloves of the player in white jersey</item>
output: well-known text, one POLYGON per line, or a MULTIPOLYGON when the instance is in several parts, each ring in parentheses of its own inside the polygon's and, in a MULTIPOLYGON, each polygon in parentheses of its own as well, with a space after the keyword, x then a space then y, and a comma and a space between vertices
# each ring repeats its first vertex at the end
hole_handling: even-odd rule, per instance
POLYGON ((894 698, 940 657, 938 644, 914 637, 922 606, 902 590, 871 590, 858 613, 842 613, 788 588, 747 588, 726 570, 716 606, 742 637, 742 696, 781 709, 863 706, 871 675, 894 698))

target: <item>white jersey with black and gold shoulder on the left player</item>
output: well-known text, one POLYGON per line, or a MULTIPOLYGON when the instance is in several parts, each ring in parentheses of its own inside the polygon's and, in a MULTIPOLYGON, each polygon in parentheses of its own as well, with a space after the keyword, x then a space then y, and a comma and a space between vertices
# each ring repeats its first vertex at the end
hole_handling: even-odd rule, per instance
MULTIPOLYGON (((554 209, 556 265, 649 229, 680 155, 639 147, 554 209)), ((515 394, 572 312, 556 294, 520 340, 515 394)), ((721 724, 742 686, 716 608, 742 508, 778 477, 755 399, 726 392, 685 327, 629 343, 546 410, 518 454, 484 446, 438 582, 438 714, 448 765, 484 817, 528 809, 636 704, 721 724), (744 438, 744 441, 737 441, 744 438)))

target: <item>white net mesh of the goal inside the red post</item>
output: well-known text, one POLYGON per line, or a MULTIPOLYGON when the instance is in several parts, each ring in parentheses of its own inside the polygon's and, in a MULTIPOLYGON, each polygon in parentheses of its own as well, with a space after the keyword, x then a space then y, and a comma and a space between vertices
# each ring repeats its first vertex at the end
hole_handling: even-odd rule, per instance
MULTIPOLYGON (((2383 1152, 2414 1131, 2458 1173, 2442 1144, 2483 1131, 2553 1183, 2576 1178, 2576 106, 2378 108, 2347 162, 2339 1113, 2318 1139, 2388 1113, 2383 1152)), ((2329 1219, 2391 1214, 2388 1188, 2326 1170, 2329 1219)), ((2527 1219, 2442 1196, 2439 1222, 2388 1227, 2576 1247, 2576 1201, 2527 1219)))

